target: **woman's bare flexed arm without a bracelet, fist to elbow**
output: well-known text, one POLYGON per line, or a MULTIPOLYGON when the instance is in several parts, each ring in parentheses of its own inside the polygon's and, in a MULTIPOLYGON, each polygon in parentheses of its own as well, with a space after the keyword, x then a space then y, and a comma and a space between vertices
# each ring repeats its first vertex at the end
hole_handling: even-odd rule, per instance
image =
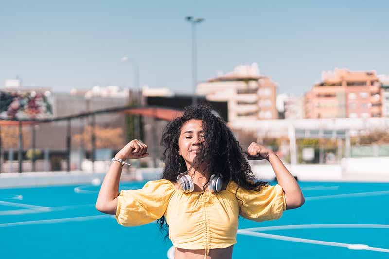
POLYGON ((286 209, 298 208, 304 204, 305 199, 299 184, 273 151, 253 142, 248 147, 248 159, 266 159, 270 162, 277 182, 285 192, 286 209))

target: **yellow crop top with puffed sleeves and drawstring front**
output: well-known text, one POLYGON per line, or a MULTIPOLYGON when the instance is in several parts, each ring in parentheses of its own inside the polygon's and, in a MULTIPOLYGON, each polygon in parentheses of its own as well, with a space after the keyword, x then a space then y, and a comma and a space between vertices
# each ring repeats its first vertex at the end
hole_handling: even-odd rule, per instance
MULTIPOLYGON (((183 193, 172 182, 147 182, 142 189, 121 190, 116 220, 123 226, 150 223, 165 216, 169 238, 183 249, 225 248, 236 243, 239 205, 238 185, 230 180, 226 190, 183 193), (197 202, 198 200, 198 202, 197 202)), ((259 192, 239 187, 241 216, 254 221, 278 219, 286 209, 280 185, 262 186, 259 192)))

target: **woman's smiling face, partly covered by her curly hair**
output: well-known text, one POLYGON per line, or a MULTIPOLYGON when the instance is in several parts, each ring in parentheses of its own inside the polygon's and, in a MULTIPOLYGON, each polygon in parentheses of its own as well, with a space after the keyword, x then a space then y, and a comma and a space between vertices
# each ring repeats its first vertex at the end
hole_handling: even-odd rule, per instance
POLYGON ((181 128, 178 139, 179 155, 185 160, 187 168, 193 165, 193 161, 200 149, 200 144, 204 141, 202 120, 186 121, 181 128))

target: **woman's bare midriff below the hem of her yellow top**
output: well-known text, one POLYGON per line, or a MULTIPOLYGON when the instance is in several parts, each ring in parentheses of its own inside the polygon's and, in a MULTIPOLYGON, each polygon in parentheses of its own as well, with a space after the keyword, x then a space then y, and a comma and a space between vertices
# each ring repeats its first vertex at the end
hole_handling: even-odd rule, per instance
MULTIPOLYGON (((210 249, 207 259, 232 259, 233 245, 226 248, 210 249)), ((174 259, 204 259, 205 249, 189 250, 182 248, 174 249, 174 259)))

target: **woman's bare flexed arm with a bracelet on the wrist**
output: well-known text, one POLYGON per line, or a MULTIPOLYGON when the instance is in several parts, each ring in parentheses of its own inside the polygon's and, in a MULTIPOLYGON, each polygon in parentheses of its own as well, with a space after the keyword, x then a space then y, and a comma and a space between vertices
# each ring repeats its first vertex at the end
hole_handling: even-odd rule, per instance
MULTIPOLYGON (((134 139, 125 145, 124 148, 115 155, 115 158, 125 161, 127 159, 143 158, 147 155, 149 155, 147 153, 147 145, 141 143, 137 139, 134 139)), ((113 161, 100 187, 99 195, 96 201, 97 210, 112 215, 116 213, 121 173, 122 165, 117 161, 113 161)))

